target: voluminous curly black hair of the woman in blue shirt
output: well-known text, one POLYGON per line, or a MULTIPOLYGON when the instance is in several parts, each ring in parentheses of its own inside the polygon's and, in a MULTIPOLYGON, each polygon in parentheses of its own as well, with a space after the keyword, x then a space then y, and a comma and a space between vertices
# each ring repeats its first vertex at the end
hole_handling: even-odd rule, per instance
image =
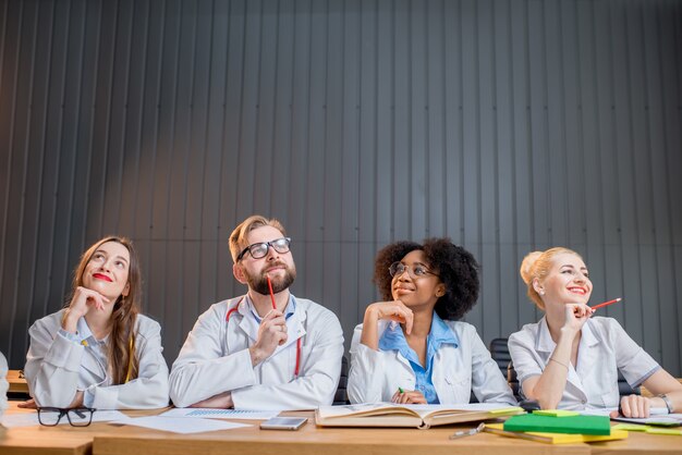
POLYGON ((446 294, 436 302, 436 313, 443 320, 460 320, 478 299, 478 262, 474 256, 450 238, 427 238, 424 244, 394 242, 381 248, 374 266, 374 283, 381 298, 392 300, 392 278, 388 269, 410 251, 421 249, 428 266, 446 285, 446 294))

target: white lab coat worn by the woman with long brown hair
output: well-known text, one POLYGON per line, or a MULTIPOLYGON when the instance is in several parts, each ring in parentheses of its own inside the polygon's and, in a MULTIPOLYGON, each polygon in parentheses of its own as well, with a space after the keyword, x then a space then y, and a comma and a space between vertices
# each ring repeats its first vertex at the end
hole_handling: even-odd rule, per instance
POLYGON ((31 329, 31 347, 24 374, 38 406, 68 407, 85 385, 96 409, 143 409, 168 406, 168 366, 161 354, 161 327, 138 315, 135 352, 138 377, 111 385, 108 366, 101 366, 88 346, 59 334, 63 310, 37 320, 31 329), (102 368, 103 367, 103 368, 102 368), (82 369, 87 371, 82 371, 82 369), (105 368, 107 371, 105 371, 105 368), (95 380, 80 384, 83 377, 95 380))

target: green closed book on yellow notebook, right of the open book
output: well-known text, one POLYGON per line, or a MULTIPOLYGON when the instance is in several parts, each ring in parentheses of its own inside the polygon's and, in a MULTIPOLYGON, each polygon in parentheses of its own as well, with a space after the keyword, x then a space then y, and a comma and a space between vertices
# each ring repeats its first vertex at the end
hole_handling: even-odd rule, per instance
POLYGON ((507 419, 504 431, 609 435, 611 434, 611 425, 610 419, 606 416, 553 417, 524 414, 507 419))

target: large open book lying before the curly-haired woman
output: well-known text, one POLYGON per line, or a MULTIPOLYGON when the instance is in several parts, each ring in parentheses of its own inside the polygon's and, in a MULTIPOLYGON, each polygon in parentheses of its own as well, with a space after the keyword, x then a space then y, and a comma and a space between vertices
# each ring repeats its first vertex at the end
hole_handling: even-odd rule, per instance
POLYGON ((315 422, 320 427, 416 427, 463 423, 523 414, 504 403, 465 405, 397 405, 394 403, 320 406, 315 422))

